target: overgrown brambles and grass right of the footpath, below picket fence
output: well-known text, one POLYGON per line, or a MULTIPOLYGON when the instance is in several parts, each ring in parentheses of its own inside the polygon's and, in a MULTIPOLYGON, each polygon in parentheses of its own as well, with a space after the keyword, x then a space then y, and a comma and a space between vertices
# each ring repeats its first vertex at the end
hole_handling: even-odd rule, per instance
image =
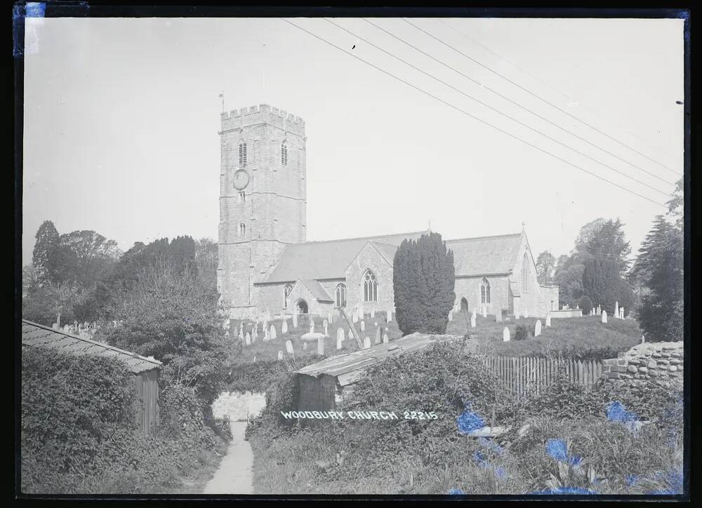
POLYGON ((274 413, 293 407, 295 392, 290 380, 281 385, 276 407, 249 429, 261 493, 682 489, 682 418, 670 416, 680 404, 663 391, 644 399, 636 389, 573 389, 562 379, 541 397, 517 399, 460 342, 369 368, 337 408, 395 411, 398 420, 324 420, 313 429, 286 420, 284 426, 274 413), (613 402, 657 420, 631 427, 611 410, 613 402), (404 411, 439 417, 405 420, 404 411), (495 439, 467 435, 484 425, 511 430, 495 439))

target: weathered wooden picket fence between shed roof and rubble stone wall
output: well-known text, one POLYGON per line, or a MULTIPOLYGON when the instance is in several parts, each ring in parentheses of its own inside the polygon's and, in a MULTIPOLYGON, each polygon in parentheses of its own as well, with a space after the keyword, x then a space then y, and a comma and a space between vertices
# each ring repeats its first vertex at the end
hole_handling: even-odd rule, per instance
POLYGON ((592 386, 602 377, 599 361, 563 360, 512 356, 484 356, 485 366, 515 394, 541 394, 564 366, 566 377, 578 385, 592 386))

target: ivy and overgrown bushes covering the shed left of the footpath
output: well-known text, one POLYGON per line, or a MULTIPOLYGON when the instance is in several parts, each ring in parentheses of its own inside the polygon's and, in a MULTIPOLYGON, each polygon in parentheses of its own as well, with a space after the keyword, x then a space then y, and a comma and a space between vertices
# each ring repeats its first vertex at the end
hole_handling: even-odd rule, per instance
POLYGON ((161 430, 136 433, 133 374, 117 359, 22 351, 22 492, 174 493, 212 469, 228 430, 192 390, 161 385, 161 430))

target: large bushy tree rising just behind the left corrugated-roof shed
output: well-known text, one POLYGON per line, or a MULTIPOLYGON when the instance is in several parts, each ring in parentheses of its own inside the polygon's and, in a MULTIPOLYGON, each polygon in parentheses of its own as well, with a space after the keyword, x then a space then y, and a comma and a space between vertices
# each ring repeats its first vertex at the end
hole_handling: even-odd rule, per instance
POLYGON ((109 312, 123 323, 110 330, 107 340, 163 361, 166 381, 194 387, 210 414, 233 344, 225 337, 218 294, 201 286, 176 258, 143 267, 135 283, 114 289, 109 312))

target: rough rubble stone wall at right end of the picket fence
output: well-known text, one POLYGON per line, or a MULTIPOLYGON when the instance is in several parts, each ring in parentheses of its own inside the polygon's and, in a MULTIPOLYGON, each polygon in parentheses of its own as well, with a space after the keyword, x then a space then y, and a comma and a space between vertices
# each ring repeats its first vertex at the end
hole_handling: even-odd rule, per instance
POLYGON ((602 361, 602 375, 613 382, 654 382, 682 388, 683 358, 682 341, 644 342, 620 353, 618 358, 602 361))

